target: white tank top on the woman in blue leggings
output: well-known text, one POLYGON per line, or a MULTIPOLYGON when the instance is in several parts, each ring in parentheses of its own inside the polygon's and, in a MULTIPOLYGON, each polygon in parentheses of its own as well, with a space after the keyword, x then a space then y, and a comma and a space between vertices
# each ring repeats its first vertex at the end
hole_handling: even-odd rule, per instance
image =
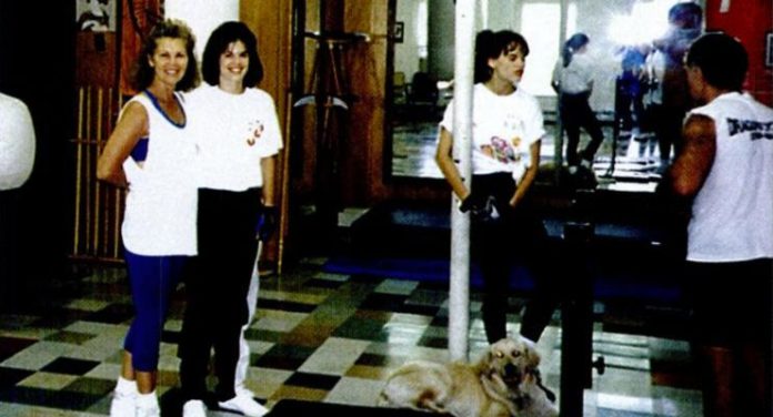
POLYGON ((139 255, 195 255, 195 144, 185 123, 174 124, 145 93, 137 94, 127 105, 131 102, 144 106, 149 138, 142 166, 131 156, 123 162, 129 181, 123 245, 139 255))

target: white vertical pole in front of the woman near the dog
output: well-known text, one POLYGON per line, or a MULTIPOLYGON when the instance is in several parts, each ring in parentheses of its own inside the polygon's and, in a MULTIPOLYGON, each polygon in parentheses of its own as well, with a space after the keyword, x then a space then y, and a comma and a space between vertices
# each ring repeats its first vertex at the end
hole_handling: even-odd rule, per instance
MULTIPOLYGON (((456 0, 453 94, 453 157, 470 187, 472 139, 472 83, 475 48, 475 1, 456 0)), ((449 292, 449 355, 468 360, 470 328, 470 215, 451 204, 451 287, 449 292)))

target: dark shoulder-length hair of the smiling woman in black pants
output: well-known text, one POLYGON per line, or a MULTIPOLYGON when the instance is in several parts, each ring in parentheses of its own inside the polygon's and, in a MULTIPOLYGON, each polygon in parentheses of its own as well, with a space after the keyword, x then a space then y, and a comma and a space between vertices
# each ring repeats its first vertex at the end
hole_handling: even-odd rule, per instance
POLYGON ((250 58, 243 87, 255 87, 263 79, 263 63, 258 54, 255 35, 247 24, 230 21, 222 23, 213 30, 210 39, 207 41, 207 47, 204 47, 204 53, 201 59, 201 73, 208 84, 218 85, 220 82, 220 55, 235 41, 244 43, 250 58))

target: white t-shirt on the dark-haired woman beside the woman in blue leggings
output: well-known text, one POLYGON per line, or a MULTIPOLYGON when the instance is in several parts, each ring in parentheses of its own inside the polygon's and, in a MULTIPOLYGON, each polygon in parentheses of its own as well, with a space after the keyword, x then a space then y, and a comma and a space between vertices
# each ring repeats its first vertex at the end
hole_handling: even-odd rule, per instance
POLYGON ((232 94, 204 84, 185 99, 199 148, 199 186, 235 192, 262 186, 260 160, 282 149, 271 95, 257 88, 232 94))

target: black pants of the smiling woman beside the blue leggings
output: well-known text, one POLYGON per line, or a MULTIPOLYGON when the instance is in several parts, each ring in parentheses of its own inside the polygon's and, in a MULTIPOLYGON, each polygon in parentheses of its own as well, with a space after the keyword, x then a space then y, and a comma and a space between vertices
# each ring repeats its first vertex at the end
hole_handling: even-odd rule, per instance
POLYGON ((214 348, 218 400, 232 398, 247 293, 258 251, 255 231, 261 190, 199 191, 199 255, 185 275, 180 383, 185 399, 203 399, 210 350, 214 348))

